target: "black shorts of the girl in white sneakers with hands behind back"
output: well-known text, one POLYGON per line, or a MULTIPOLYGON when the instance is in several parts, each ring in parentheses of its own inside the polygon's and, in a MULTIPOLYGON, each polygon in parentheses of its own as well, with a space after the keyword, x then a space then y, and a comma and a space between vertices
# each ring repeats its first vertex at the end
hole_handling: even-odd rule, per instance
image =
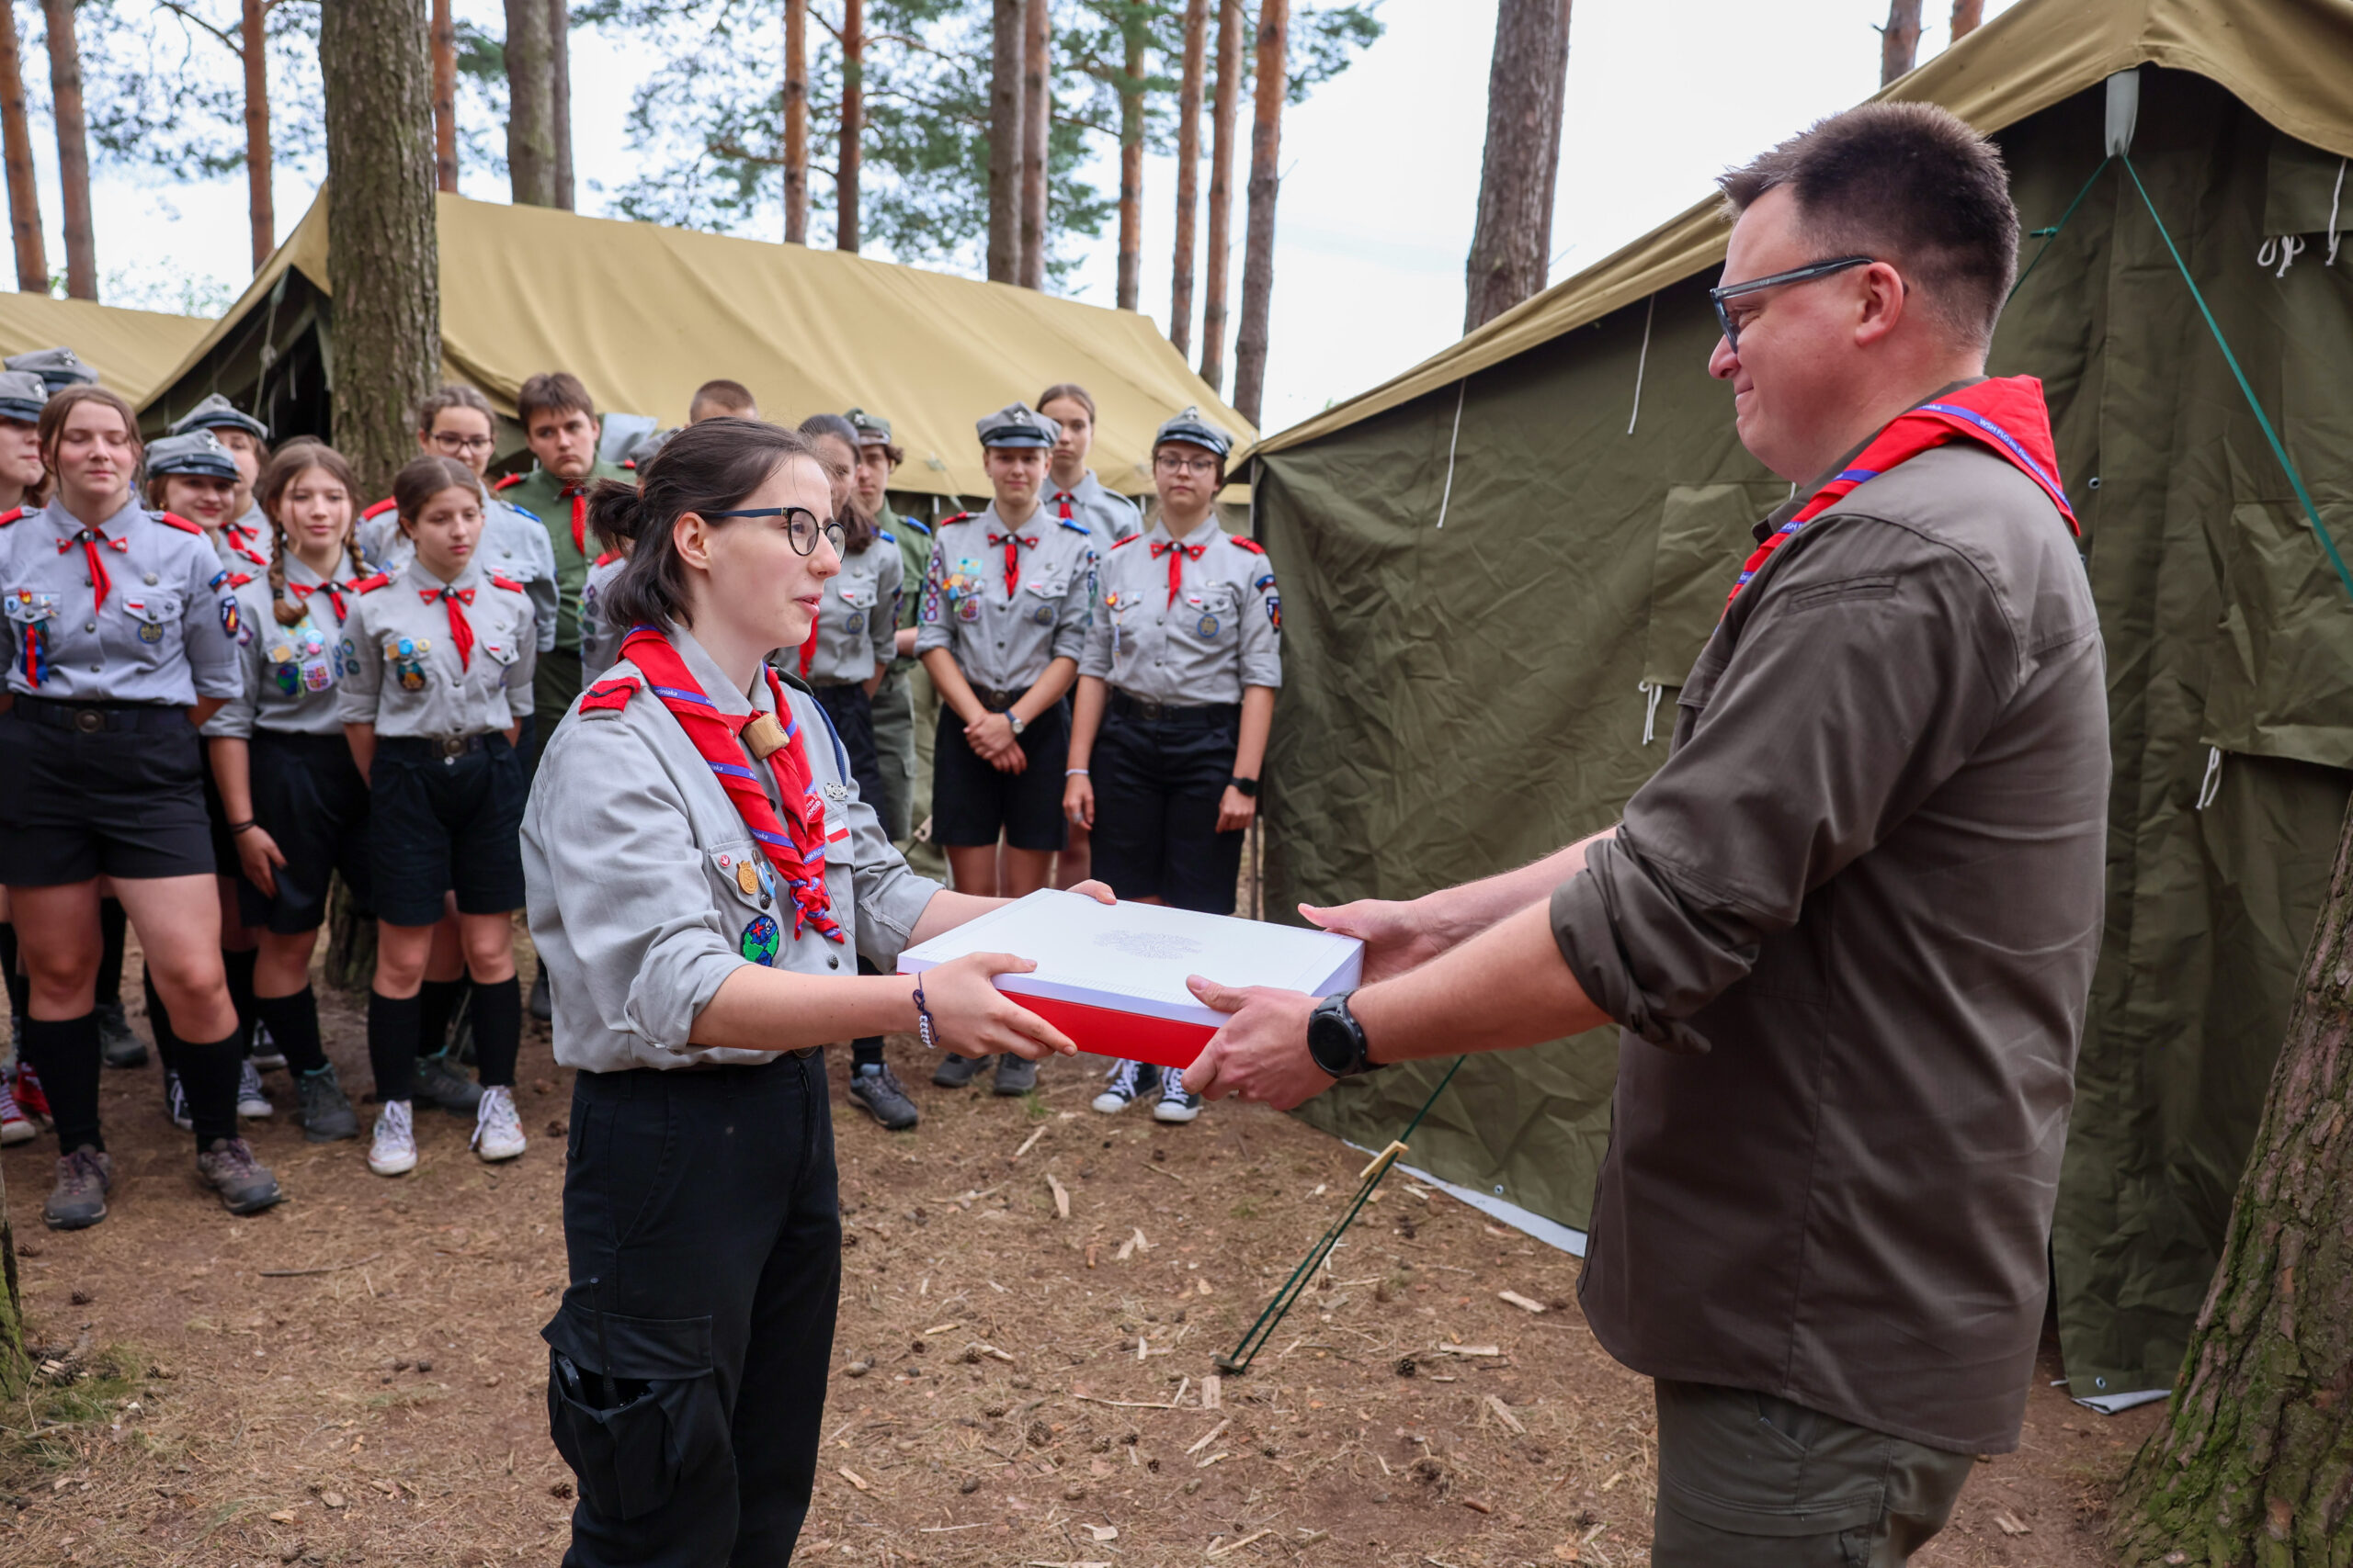
POLYGON ((376 919, 433 926, 442 893, 459 914, 522 907, 522 757, 504 733, 478 736, 461 757, 438 741, 376 741, 369 790, 369 896, 376 919))

